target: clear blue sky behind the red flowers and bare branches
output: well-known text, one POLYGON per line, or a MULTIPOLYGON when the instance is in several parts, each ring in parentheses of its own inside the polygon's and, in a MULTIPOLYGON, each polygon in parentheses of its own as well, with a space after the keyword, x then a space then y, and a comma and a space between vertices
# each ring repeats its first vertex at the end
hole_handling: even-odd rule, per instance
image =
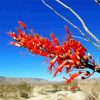
MULTIPOLYGON (((68 10, 54 0, 45 1, 83 30, 80 22, 68 10)), ((100 39, 100 6, 94 0, 62 1, 72 7, 83 18, 90 31, 100 39)), ((43 63, 45 61, 43 57, 9 45, 12 39, 6 33, 10 30, 15 31, 18 20, 25 22, 29 29, 33 28, 44 37, 50 38, 50 33, 54 32, 60 42, 65 39, 65 25, 74 35, 81 36, 77 30, 44 6, 41 0, 0 0, 0 76, 61 80, 62 75, 52 79, 52 75, 47 73, 49 64, 43 63)), ((88 48, 95 60, 97 58, 100 60, 100 52, 90 43, 78 40, 88 48)))

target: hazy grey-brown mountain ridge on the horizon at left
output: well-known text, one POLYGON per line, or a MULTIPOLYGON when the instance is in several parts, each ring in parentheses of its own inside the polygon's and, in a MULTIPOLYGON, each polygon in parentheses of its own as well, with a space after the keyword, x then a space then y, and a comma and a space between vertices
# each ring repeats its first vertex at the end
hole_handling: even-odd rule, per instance
POLYGON ((27 82, 29 84, 47 84, 48 80, 41 78, 13 78, 0 76, 0 84, 19 84, 20 82, 27 82))

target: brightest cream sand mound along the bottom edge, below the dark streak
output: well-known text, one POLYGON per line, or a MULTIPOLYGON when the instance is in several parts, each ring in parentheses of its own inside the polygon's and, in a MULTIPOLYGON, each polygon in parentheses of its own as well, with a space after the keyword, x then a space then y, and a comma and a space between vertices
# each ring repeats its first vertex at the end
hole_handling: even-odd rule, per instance
POLYGON ((55 93, 43 92, 36 93, 33 97, 27 100, 92 100, 89 95, 81 91, 73 93, 71 91, 58 91, 55 93))

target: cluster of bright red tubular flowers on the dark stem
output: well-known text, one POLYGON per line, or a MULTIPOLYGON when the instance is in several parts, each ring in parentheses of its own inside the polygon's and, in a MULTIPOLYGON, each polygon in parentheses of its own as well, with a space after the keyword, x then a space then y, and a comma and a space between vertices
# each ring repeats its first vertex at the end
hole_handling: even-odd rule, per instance
MULTIPOLYGON (((27 30, 26 24, 18 21, 18 24, 27 30)), ((72 33, 66 27, 66 41, 59 45, 58 39, 53 33, 51 33, 51 41, 47 38, 40 36, 39 34, 26 34, 19 28, 16 28, 18 35, 14 32, 8 32, 8 34, 15 40, 15 42, 10 42, 10 44, 18 47, 27 48, 33 54, 40 56, 45 56, 50 58, 50 66, 48 71, 51 72, 54 68, 55 63, 58 66, 54 68, 54 77, 58 72, 62 72, 64 67, 66 68, 66 73, 72 71, 72 69, 78 69, 79 71, 69 75, 70 78, 66 79, 66 84, 69 84, 79 75, 83 74, 82 79, 90 77, 89 71, 80 71, 80 69, 85 69, 88 66, 95 68, 96 64, 91 55, 86 55, 87 49, 79 42, 72 38, 72 33)), ((90 68, 91 69, 91 68, 90 68)))

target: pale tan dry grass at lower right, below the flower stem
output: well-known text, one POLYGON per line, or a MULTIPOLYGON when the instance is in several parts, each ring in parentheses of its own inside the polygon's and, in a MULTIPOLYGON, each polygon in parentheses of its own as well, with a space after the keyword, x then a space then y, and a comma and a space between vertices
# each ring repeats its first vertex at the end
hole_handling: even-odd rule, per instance
POLYGON ((100 80, 89 79, 87 81, 80 82, 78 85, 83 92, 91 95, 91 100, 100 100, 100 80))

